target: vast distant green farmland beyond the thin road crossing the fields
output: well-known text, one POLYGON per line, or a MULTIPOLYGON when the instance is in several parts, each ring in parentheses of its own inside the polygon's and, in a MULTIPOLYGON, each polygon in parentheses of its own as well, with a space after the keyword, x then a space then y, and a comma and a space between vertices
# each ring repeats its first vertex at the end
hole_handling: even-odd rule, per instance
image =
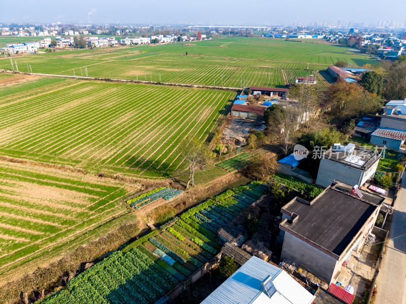
MULTIPOLYGON (((338 60, 349 66, 376 60, 347 48, 309 42, 232 37, 221 40, 167 45, 128 46, 98 50, 61 50, 13 57, 19 70, 61 75, 142 80, 164 83, 224 86, 283 87, 291 76, 325 70, 338 60), (186 56, 186 52, 188 55, 186 56), (284 77, 284 74, 287 77, 284 77)), ((11 70, 9 58, 0 69, 11 70)))

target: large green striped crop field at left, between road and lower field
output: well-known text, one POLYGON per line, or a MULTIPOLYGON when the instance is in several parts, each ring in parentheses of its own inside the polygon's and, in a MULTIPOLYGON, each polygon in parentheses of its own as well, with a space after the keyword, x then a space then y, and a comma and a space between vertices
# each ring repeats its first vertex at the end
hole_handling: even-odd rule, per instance
MULTIPOLYGON (((47 88, 53 79, 45 80, 47 88)), ((216 90, 58 81, 51 92, 33 89, 33 96, 0 89, 0 154, 159 177, 182 165, 178 147, 186 138, 206 140, 235 97, 216 90)))

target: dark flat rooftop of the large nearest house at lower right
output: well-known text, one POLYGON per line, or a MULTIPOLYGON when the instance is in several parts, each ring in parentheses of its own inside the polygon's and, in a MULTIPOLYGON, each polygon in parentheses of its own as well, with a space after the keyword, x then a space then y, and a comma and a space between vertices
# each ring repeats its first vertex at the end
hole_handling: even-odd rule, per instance
POLYGON ((282 207, 282 212, 297 216, 293 221, 282 222, 281 226, 340 256, 384 201, 364 191, 359 199, 350 195, 350 191, 350 185, 339 182, 326 188, 311 203, 293 199, 282 207))

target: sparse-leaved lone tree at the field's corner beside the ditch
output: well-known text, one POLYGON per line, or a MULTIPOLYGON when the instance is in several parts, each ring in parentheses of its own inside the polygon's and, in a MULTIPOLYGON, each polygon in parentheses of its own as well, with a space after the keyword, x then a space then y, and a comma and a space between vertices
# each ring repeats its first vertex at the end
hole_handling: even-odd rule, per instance
POLYGON ((211 151, 208 145, 200 142, 197 139, 186 139, 184 144, 180 147, 181 155, 185 158, 187 168, 182 172, 188 172, 189 178, 186 184, 186 189, 189 187, 190 182, 194 185, 194 173, 197 170, 204 170, 210 168, 211 165, 211 151))

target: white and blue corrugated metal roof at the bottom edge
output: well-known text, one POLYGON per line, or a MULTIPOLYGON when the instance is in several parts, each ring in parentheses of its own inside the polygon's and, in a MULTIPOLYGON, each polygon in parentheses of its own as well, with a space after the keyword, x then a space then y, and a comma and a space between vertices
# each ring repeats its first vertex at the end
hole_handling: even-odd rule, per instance
POLYGON ((310 304, 314 298, 285 271, 253 256, 201 304, 310 304), (277 288, 270 298, 261 285, 269 275, 277 288))

